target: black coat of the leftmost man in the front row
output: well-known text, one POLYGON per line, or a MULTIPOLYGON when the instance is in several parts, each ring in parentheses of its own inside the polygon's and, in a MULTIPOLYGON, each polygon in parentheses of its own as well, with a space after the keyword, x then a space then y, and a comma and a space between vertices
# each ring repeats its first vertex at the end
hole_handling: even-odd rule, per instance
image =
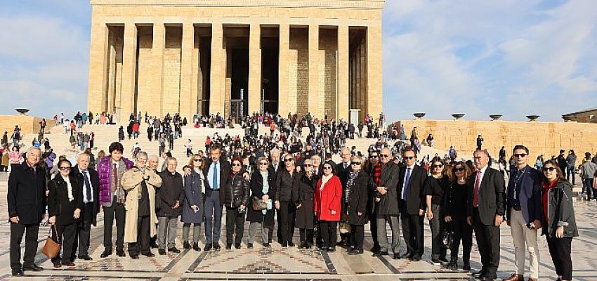
POLYGON ((39 224, 46 214, 46 175, 44 169, 35 171, 27 161, 13 165, 8 176, 8 218, 19 217, 19 223, 39 224))

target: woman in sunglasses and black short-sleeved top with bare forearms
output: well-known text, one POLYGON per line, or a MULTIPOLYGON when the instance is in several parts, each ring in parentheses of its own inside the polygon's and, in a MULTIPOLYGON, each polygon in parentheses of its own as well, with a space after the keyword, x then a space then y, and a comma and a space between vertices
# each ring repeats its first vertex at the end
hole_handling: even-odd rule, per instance
POLYGON ((427 219, 431 227, 431 263, 434 266, 447 265, 446 248, 442 244, 444 232, 444 207, 442 201, 450 180, 444 172, 444 162, 440 157, 431 159, 431 175, 425 181, 427 219))

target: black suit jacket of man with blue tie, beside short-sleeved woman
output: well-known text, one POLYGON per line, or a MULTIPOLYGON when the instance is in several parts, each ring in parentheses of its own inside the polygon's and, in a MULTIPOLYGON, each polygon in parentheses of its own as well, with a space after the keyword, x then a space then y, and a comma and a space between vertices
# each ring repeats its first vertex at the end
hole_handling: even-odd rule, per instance
POLYGON ((424 194, 427 171, 425 168, 414 165, 410 173, 410 181, 407 188, 406 198, 402 198, 402 185, 404 185, 407 166, 400 167, 400 181, 398 181, 398 198, 406 200, 406 210, 410 215, 418 215, 419 210, 426 209, 426 196, 424 194))

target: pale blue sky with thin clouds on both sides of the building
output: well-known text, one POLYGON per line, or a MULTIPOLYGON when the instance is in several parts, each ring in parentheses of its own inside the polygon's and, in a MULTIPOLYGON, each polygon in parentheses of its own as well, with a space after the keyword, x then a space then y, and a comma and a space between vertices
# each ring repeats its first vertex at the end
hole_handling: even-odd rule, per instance
MULTIPOLYGON (((87 0, 1 1, 0 115, 86 107, 90 20, 87 0)), ((597 1, 386 0, 383 103, 391 120, 597 107, 597 1)))

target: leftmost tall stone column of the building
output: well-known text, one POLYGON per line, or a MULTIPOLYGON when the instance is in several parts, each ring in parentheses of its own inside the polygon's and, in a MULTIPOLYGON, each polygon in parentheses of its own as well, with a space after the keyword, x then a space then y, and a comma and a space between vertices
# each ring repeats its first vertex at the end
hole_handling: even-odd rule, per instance
POLYGON ((91 46, 89 51, 89 80, 87 85, 87 110, 94 114, 106 110, 108 27, 103 22, 91 22, 91 46))

